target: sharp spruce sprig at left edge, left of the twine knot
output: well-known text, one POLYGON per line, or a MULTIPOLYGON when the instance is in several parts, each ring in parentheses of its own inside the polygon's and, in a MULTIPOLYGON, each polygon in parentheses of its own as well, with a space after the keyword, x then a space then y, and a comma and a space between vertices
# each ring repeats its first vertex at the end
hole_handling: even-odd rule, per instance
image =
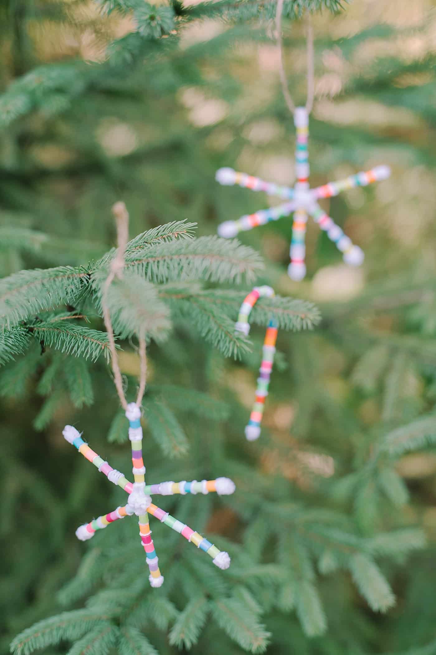
POLYGON ((84 269, 20 271, 0 280, 0 329, 16 326, 40 310, 71 303, 87 280, 84 269))

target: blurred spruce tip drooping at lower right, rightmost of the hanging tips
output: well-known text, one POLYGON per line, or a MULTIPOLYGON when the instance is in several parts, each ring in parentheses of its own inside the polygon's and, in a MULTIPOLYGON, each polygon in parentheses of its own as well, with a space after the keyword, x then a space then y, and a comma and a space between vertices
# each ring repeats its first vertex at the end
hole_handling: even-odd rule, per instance
POLYGON ((357 588, 374 612, 386 612, 395 605, 389 583, 370 557, 356 553, 349 560, 349 569, 357 588))

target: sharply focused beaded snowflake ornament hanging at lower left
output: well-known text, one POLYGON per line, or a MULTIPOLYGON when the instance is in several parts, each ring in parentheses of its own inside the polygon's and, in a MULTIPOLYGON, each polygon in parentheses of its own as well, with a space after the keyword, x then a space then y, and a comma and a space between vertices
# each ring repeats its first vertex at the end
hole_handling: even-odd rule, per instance
POLYGON ((218 495, 228 495, 235 491, 235 484, 228 477, 218 477, 216 480, 202 480, 197 482, 193 480, 187 482, 161 482, 157 485, 146 485, 145 472, 146 467, 142 460, 142 428, 140 423, 141 410, 136 403, 129 403, 127 405, 126 417, 129 419, 129 439, 132 445, 132 472, 134 475, 134 482, 129 482, 125 476, 109 466, 97 453, 90 449, 89 445, 83 441, 81 434, 71 425, 66 425, 62 434, 64 438, 75 445, 79 453, 86 457, 87 460, 92 462, 98 470, 108 477, 109 481, 118 485, 129 494, 127 504, 123 507, 117 507, 113 512, 99 516, 93 519, 90 523, 84 523, 77 528, 75 534, 78 539, 85 541, 94 536, 96 530, 106 528, 109 523, 113 523, 117 519, 122 519, 125 516, 136 514, 138 517, 140 537, 144 550, 146 552, 146 562, 149 568, 149 582, 152 587, 160 587, 163 584, 163 576, 159 570, 159 558, 156 555, 153 539, 151 538, 151 530, 149 527, 148 515, 155 516, 161 523, 168 525, 176 532, 182 534, 189 542, 195 544, 197 548, 204 550, 210 557, 212 562, 219 569, 228 569, 230 565, 230 557, 228 553, 218 550, 214 544, 211 544, 201 534, 193 531, 188 525, 181 523, 157 507, 151 502, 151 494, 160 494, 162 496, 171 496, 174 494, 186 495, 188 493, 207 494, 210 491, 216 491, 218 495))

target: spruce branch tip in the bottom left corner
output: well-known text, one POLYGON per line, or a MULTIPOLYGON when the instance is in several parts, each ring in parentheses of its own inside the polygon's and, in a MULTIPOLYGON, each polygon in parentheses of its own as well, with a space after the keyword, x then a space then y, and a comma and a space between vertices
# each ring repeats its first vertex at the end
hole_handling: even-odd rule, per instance
POLYGON ((54 646, 64 639, 75 641, 97 627, 97 624, 106 625, 108 618, 105 614, 89 610, 62 612, 35 623, 17 635, 10 644, 10 652, 14 655, 29 655, 38 648, 54 646))

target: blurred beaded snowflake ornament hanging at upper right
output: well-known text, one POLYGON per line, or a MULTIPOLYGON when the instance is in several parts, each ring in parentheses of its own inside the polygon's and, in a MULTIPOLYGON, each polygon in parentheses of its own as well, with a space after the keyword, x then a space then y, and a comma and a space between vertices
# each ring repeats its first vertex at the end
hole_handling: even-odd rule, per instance
POLYGON ((239 173, 233 168, 220 168, 216 172, 216 181, 223 185, 247 187, 252 191, 266 191, 269 195, 286 198, 287 202, 277 207, 260 210, 255 214, 241 216, 237 221, 225 221, 218 226, 219 236, 232 238, 239 232, 250 230, 269 221, 277 221, 283 216, 294 214, 292 225, 292 242, 290 244, 290 264, 288 275, 292 280, 302 280, 306 275, 306 236, 307 216, 311 215, 315 223, 327 232, 328 238, 344 253, 344 261, 352 266, 359 266, 364 254, 359 246, 355 246, 342 229, 334 223, 319 206, 320 198, 331 198, 345 189, 365 187, 368 184, 386 179, 391 174, 389 166, 376 166, 366 172, 351 175, 346 179, 329 182, 315 189, 309 188, 309 162, 307 155, 307 139, 309 136, 309 115, 306 107, 296 107, 294 111, 296 128, 295 170, 296 183, 294 187, 283 187, 275 183, 265 182, 246 173, 239 173))

